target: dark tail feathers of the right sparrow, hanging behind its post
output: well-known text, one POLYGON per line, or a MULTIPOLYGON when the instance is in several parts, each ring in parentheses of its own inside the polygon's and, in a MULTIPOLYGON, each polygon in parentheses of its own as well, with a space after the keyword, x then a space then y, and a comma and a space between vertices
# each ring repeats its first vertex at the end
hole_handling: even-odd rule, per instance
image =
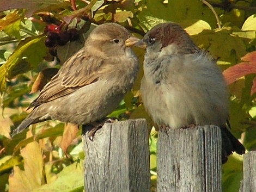
POLYGON ((245 147, 237 140, 233 134, 229 132, 227 127, 221 127, 222 133, 222 163, 227 162, 227 157, 236 152, 238 154, 245 153, 245 147))

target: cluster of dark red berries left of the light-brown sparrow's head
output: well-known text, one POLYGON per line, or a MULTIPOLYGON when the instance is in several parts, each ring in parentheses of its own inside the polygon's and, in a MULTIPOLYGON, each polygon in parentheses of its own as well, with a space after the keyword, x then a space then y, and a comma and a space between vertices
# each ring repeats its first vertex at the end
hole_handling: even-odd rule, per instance
POLYGON ((76 41, 79 38, 77 29, 63 30, 61 26, 49 24, 45 27, 47 38, 45 39, 45 46, 48 48, 57 45, 64 46, 69 41, 76 41))

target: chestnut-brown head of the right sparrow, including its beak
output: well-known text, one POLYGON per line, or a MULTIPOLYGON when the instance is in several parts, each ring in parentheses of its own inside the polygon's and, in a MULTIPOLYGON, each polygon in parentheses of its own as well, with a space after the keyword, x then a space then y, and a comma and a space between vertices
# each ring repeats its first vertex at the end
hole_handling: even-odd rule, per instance
POLYGON ((147 47, 147 52, 160 52, 168 55, 190 54, 198 50, 186 31, 176 23, 158 24, 145 34, 137 46, 147 47))

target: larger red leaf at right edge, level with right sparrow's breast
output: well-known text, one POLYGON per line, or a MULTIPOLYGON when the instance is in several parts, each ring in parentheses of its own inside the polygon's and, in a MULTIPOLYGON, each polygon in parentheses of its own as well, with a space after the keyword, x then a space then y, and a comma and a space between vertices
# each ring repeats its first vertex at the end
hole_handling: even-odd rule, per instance
POLYGON ((251 64, 247 62, 242 62, 224 70, 223 76, 227 84, 229 85, 231 83, 234 83, 240 77, 249 75, 251 73, 256 73, 256 63, 251 64))

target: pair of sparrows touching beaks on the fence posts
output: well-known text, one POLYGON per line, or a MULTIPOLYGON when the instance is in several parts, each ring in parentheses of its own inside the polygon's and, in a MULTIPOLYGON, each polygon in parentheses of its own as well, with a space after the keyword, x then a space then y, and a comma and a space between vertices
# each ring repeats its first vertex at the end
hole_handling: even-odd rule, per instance
POLYGON ((155 26, 142 40, 116 23, 101 24, 52 77, 31 114, 12 135, 45 120, 86 125, 111 113, 132 88, 138 60, 131 46, 147 47, 141 82, 142 101, 160 128, 217 125, 222 131, 222 162, 245 153, 225 126, 228 94, 215 61, 176 23, 155 26))

